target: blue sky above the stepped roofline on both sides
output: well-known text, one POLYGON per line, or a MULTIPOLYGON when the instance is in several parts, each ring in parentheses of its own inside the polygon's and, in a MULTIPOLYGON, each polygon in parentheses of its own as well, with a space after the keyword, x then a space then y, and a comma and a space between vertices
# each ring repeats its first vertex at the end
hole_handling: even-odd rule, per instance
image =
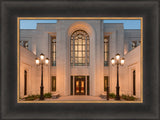
MULTIPOLYGON (((36 29, 37 23, 56 23, 57 20, 20 20, 20 29, 36 29)), ((104 23, 123 23, 124 29, 140 29, 140 20, 104 20, 104 23)))

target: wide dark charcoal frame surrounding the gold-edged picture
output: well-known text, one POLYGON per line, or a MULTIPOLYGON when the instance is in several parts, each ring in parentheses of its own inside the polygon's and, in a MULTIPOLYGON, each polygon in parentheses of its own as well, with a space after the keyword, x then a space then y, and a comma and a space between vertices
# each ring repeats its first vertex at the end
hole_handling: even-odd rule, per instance
POLYGON ((81 0, 78 4, 75 1, 1 1, 1 119, 159 120, 159 1, 81 0), (143 17, 143 103, 17 103, 17 17, 20 16, 143 17))

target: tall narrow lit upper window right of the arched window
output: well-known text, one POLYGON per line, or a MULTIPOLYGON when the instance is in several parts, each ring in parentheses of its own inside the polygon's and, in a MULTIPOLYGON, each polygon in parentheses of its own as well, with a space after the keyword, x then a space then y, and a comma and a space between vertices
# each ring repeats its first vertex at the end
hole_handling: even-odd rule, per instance
POLYGON ((109 36, 104 37, 104 66, 108 66, 109 59, 109 36))

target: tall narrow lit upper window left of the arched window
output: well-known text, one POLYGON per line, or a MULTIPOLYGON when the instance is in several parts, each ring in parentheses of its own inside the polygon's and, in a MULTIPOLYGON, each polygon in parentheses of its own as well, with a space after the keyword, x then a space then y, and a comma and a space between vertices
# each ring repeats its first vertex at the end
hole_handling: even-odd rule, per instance
POLYGON ((51 64, 56 66, 56 37, 51 38, 51 64))

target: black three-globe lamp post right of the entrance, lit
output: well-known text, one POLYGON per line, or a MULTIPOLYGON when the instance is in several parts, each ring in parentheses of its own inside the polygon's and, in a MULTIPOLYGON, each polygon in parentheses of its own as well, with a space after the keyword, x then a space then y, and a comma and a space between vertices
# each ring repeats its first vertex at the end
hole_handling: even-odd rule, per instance
POLYGON ((117 65, 117 86, 116 86, 116 100, 120 100, 120 96, 119 96, 119 66, 123 66, 124 65, 124 58, 120 57, 120 54, 116 54, 115 58, 111 59, 111 63, 112 65, 117 65))

